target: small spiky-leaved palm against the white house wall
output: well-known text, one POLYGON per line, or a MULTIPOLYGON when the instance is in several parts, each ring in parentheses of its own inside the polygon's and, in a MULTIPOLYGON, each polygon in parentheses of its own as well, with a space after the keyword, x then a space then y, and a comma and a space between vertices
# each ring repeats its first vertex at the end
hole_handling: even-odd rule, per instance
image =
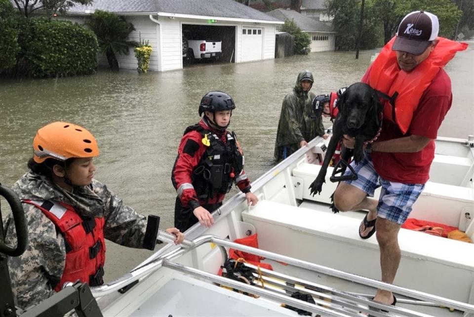
POLYGON ((134 41, 128 41, 128 36, 135 27, 125 20, 125 17, 113 13, 95 10, 86 24, 94 31, 99 43, 99 52, 107 56, 112 70, 118 71, 118 60, 115 53, 129 54, 129 47, 137 46, 134 41))

